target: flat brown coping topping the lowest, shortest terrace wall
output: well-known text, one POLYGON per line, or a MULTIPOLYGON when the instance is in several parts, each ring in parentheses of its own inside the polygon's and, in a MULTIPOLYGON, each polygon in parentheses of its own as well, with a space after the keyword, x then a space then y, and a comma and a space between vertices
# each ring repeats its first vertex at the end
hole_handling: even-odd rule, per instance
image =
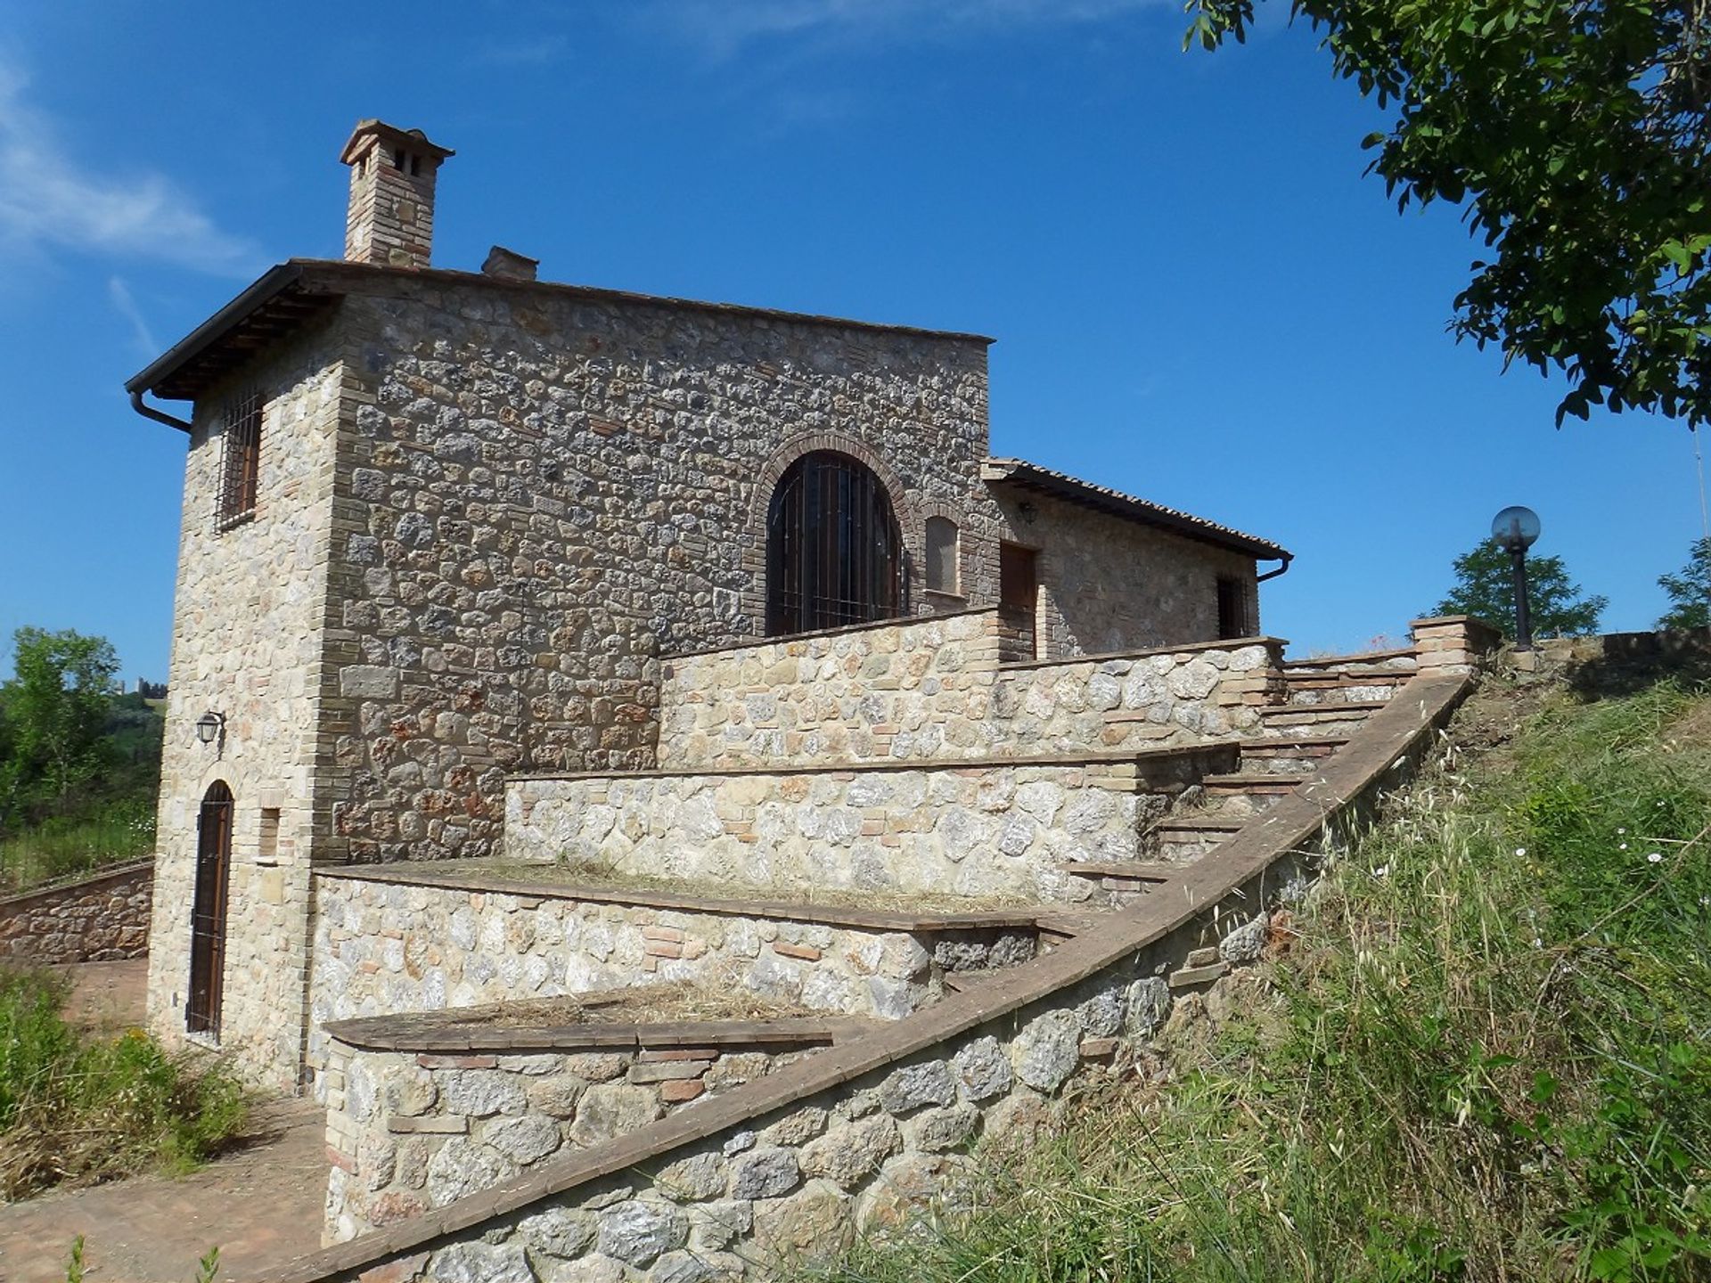
POLYGON ((676 1047, 782 1047, 830 1045, 871 1033, 883 1020, 857 1016, 780 1016, 777 1020, 660 1020, 609 1021, 595 1025, 477 1025, 443 1016, 438 1028, 424 1026, 421 1014, 363 1016, 330 1020, 329 1037, 371 1052, 421 1052, 459 1055, 469 1052, 580 1052, 580 1050, 664 1050, 676 1047))

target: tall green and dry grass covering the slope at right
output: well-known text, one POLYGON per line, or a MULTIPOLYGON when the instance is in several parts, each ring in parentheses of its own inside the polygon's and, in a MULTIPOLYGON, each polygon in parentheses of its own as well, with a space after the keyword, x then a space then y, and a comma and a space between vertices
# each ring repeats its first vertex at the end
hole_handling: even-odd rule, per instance
POLYGON ((1656 686, 1446 760, 1237 1014, 1174 1023, 1174 1081, 832 1276, 1711 1280, 1708 732, 1656 686))

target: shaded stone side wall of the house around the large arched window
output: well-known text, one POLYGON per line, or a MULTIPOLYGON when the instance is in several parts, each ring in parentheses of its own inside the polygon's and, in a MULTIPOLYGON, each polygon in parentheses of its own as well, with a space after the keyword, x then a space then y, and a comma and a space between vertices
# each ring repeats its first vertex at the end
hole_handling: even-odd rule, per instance
POLYGON ((869 460, 912 566, 921 505, 963 513, 991 553, 968 592, 992 599, 982 340, 486 279, 383 289, 344 304, 363 361, 329 727, 354 859, 491 854, 506 772, 655 765, 657 655, 760 631, 760 479, 792 452, 869 460))

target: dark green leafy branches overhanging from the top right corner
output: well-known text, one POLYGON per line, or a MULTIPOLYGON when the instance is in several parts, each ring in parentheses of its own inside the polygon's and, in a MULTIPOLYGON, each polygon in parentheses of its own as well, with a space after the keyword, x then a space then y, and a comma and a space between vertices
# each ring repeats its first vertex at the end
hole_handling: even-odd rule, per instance
MULTIPOLYGON (((1189 41, 1256 0, 1189 0, 1189 41)), ((1372 169, 1483 243, 1451 328, 1560 370, 1557 407, 1711 423, 1706 0, 1290 0, 1336 75, 1394 116, 1372 169)))

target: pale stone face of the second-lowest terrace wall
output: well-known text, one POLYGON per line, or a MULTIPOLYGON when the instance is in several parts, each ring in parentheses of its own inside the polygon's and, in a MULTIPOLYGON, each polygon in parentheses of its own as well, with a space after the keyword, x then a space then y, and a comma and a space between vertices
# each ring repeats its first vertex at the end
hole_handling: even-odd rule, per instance
POLYGON ((708 905, 636 895, 317 878, 310 1062, 332 1020, 559 997, 638 984, 737 985, 811 1011, 905 1016, 943 973, 1033 956, 1027 915, 934 927, 826 907, 708 905), (820 919, 820 920, 811 920, 820 919))

